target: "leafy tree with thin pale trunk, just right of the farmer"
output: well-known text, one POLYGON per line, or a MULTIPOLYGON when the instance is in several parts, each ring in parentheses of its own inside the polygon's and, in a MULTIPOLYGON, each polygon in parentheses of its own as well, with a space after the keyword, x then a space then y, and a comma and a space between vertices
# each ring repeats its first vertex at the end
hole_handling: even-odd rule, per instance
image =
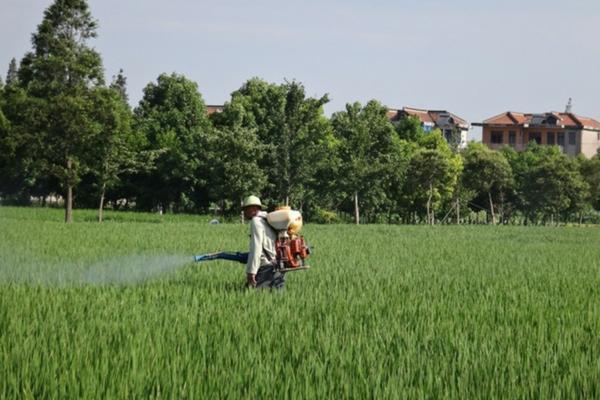
POLYGON ((406 170, 400 140, 386 113, 386 107, 372 100, 364 107, 347 104, 331 117, 340 158, 336 186, 352 199, 357 225, 361 203, 363 211, 390 206, 390 189, 399 185, 406 170))

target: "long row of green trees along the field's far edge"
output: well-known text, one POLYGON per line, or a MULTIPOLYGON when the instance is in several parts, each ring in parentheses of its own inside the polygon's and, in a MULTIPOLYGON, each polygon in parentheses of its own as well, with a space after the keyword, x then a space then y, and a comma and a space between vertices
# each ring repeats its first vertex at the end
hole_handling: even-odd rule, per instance
POLYGON ((458 149, 416 119, 391 122, 376 100, 326 117, 327 95, 297 81, 249 79, 207 114, 198 85, 161 74, 131 109, 127 79, 110 83, 89 45, 85 0, 56 0, 0 81, 0 199, 64 199, 102 210, 239 213, 258 194, 316 222, 598 222, 600 155, 569 158, 458 149))

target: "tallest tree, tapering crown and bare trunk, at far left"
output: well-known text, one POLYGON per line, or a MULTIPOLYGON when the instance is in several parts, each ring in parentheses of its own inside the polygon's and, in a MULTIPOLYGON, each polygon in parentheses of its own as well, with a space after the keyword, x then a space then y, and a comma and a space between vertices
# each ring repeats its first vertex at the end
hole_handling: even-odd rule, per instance
POLYGON ((20 84, 37 111, 26 126, 37 132, 32 148, 45 171, 65 193, 65 221, 72 222, 73 189, 86 171, 90 145, 99 131, 91 115, 91 91, 103 83, 100 55, 88 47, 97 23, 85 0, 56 0, 33 34, 33 51, 19 69, 20 84))

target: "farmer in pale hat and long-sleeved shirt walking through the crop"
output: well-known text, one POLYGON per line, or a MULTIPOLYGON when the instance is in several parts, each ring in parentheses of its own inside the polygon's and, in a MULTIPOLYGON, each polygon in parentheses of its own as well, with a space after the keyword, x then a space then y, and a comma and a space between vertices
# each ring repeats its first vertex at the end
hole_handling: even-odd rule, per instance
POLYGON ((246 263, 248 287, 283 289, 284 273, 275 270, 277 234, 267 222, 260 199, 248 196, 242 204, 244 217, 250 221, 250 250, 246 263))

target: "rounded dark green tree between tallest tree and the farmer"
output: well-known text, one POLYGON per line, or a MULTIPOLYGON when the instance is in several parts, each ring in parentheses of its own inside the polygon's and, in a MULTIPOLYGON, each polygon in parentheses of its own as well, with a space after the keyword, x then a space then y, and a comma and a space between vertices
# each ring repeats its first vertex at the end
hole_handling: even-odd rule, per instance
POLYGON ((183 211, 208 205, 211 126, 197 84, 183 75, 160 75, 145 87, 134 125, 146 150, 160 152, 155 168, 137 177, 138 207, 183 211))

